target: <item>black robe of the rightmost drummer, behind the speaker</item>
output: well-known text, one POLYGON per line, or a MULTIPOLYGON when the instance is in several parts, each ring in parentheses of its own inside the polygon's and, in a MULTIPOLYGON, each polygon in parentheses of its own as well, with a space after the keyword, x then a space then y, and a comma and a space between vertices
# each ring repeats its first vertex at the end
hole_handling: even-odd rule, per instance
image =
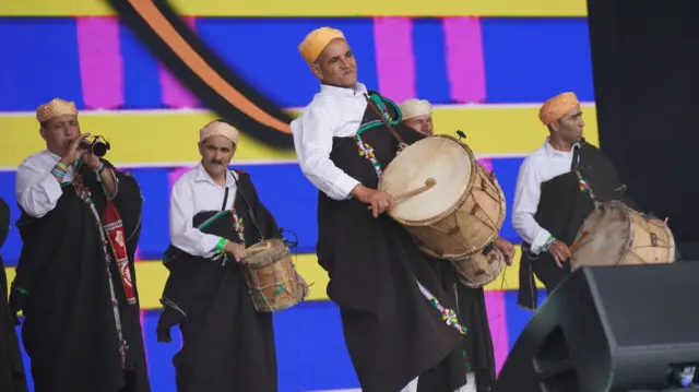
MULTIPOLYGON (((541 198, 534 218, 552 236, 570 247, 578 229, 594 210, 595 201, 604 203, 620 200, 633 206, 625 197, 625 190, 626 187, 619 181, 612 162, 583 139, 573 150, 570 171, 541 185, 541 198), (587 179, 594 200, 589 192, 581 190, 580 178, 576 171, 587 179)), ((546 286, 546 292, 550 293, 570 274, 570 263, 564 262, 564 268, 559 269, 550 253, 542 251, 534 256, 529 248, 529 243, 523 243, 518 305, 536 309, 538 296, 534 274, 546 286)))

